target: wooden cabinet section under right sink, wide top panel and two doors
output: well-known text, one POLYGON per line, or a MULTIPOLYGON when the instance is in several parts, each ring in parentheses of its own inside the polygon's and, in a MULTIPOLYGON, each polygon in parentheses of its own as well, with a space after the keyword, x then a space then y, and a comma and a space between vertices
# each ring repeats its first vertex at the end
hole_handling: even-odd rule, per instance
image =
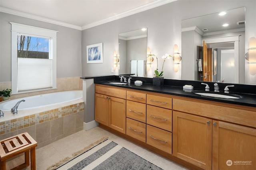
POLYGON ((256 169, 256 112, 225 105, 173 99, 172 154, 207 170, 256 169))

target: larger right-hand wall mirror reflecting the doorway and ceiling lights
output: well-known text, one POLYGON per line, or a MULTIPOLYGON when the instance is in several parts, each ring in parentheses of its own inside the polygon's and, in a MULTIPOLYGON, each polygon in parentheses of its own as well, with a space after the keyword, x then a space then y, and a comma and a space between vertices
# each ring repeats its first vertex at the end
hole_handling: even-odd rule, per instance
POLYGON ((244 84, 245 7, 223 12, 182 20, 182 80, 244 84), (208 63, 203 60, 203 41, 208 63), (210 65, 207 73, 205 64, 210 65))

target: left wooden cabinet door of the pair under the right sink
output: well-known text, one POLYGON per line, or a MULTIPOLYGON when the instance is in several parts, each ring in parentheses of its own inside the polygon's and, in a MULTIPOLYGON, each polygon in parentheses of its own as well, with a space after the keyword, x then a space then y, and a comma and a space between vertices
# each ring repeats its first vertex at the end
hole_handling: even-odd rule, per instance
POLYGON ((172 154, 200 168, 212 168, 212 120, 173 111, 172 154))

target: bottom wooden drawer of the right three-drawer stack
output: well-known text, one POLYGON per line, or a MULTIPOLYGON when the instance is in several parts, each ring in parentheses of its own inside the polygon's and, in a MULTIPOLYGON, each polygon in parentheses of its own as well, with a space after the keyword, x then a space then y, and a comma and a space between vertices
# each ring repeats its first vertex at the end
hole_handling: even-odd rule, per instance
POLYGON ((147 125, 147 144, 172 154, 172 133, 147 125))

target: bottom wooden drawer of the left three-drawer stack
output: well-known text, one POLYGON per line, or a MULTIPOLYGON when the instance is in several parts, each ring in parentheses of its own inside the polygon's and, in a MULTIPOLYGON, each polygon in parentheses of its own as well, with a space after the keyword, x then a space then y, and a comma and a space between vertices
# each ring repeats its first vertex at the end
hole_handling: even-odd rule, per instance
POLYGON ((126 135, 146 143, 146 124, 126 118, 126 135))

